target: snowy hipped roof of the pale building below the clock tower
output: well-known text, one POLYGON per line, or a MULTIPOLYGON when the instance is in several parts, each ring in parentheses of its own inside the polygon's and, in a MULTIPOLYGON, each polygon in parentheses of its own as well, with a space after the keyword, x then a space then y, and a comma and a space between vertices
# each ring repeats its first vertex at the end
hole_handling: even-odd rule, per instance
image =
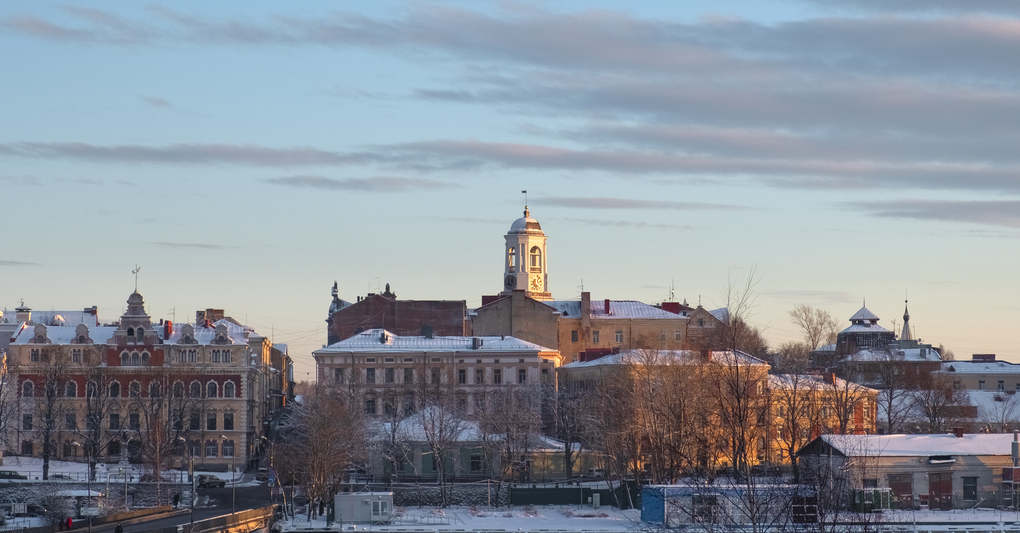
POLYGON ((434 336, 395 335, 385 329, 369 329, 345 338, 315 353, 329 352, 554 352, 512 336, 434 336), (477 340, 475 340, 477 339, 477 340), (477 344, 476 344, 477 342, 477 344))

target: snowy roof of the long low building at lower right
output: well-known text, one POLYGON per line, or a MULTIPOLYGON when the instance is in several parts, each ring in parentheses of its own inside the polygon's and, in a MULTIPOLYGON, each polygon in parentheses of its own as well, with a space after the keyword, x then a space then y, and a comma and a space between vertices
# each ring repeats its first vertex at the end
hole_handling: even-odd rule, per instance
POLYGON ((1012 433, 936 435, 822 435, 848 457, 1009 456, 1012 433))

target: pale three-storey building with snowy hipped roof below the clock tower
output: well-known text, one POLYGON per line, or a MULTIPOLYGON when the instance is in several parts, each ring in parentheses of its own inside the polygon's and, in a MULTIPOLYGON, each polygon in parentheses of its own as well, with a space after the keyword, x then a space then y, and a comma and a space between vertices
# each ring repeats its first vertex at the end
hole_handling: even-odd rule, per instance
POLYGON ((465 414, 487 390, 552 384, 555 350, 512 336, 401 336, 370 329, 312 352, 319 383, 356 386, 371 416, 414 413, 431 389, 451 391, 465 414))

